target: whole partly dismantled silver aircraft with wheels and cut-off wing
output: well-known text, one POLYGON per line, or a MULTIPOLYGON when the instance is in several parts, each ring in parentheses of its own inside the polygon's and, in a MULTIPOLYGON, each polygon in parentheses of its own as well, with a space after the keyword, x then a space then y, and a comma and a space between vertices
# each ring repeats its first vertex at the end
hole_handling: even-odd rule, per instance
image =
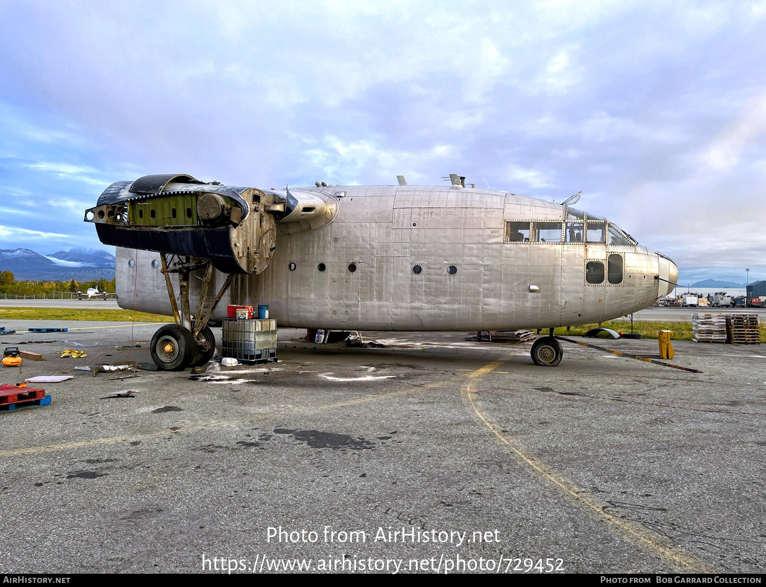
POLYGON ((398 179, 266 190, 148 175, 110 185, 84 220, 118 247, 119 305, 174 317, 150 347, 167 370, 210 360, 208 321, 227 304, 268 304, 287 328, 546 328, 532 360, 552 367, 553 328, 628 315, 675 286, 673 261, 576 197, 398 179))

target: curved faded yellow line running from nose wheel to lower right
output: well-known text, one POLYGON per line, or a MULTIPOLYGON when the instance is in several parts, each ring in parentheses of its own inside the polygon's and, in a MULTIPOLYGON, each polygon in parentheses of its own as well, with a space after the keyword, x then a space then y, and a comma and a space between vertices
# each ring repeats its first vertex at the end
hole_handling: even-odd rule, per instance
POLYGON ((648 530, 642 524, 630 520, 622 520, 609 514, 604 509, 605 507, 608 507, 609 504, 598 501, 594 497, 586 497, 588 490, 579 487, 568 478, 565 478, 564 475, 558 473, 558 471, 555 471, 554 468, 546 465, 540 459, 529 455, 519 445, 516 439, 502 435, 498 426, 496 426, 494 422, 490 422, 489 418, 484 416, 484 414, 480 412, 479 407, 476 406, 476 400, 474 398, 478 395, 478 392, 476 392, 475 386, 477 380, 480 380, 481 377, 484 377, 487 373, 506 363, 510 358, 511 357, 505 357, 500 360, 495 360, 492 363, 484 365, 484 367, 480 367, 480 369, 476 369, 473 373, 469 373, 467 376, 468 381, 461 390, 461 395, 466 399, 466 402, 470 405, 470 408, 473 409, 473 412, 476 414, 476 417, 480 422, 493 432, 496 439, 501 442, 502 445, 505 445, 506 448, 509 449, 515 457, 515 460, 522 466, 525 466, 525 468, 530 469, 535 474, 550 481, 555 488, 564 492, 567 497, 575 501, 576 504, 585 507, 591 514, 596 514, 595 517, 602 518, 613 524, 612 528, 617 530, 618 533, 620 533, 620 536, 624 539, 637 543, 638 546, 642 546, 644 549, 649 550, 650 553, 659 554, 660 556, 663 556, 663 558, 677 563, 684 572, 716 572, 716 569, 708 563, 705 563, 692 555, 680 552, 676 546, 673 546, 673 544, 669 542, 669 540, 648 530))

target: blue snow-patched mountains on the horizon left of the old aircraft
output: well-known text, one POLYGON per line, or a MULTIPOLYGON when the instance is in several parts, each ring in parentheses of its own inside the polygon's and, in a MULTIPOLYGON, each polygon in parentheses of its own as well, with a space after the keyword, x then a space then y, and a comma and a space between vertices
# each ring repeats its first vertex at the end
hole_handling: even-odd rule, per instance
POLYGON ((12 271, 17 281, 112 280, 114 255, 103 249, 75 248, 50 255, 32 249, 0 249, 0 271, 12 271))

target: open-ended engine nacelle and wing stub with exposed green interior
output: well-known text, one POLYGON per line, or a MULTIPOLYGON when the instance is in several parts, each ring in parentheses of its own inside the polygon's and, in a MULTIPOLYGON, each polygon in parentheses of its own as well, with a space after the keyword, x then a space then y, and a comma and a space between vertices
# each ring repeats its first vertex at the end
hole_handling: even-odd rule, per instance
POLYGON ((285 204, 257 188, 147 175, 111 184, 84 220, 107 245, 201 257, 221 272, 252 274, 270 263, 285 204))

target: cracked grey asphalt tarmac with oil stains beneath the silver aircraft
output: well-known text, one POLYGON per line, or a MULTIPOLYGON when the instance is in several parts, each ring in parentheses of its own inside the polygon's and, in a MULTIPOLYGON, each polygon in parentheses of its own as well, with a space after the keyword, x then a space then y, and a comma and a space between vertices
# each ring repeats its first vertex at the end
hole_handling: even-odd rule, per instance
POLYGON ((760 345, 674 341, 691 373, 568 343, 535 367, 529 344, 464 332, 349 348, 280 330, 278 363, 120 379, 74 367, 150 361, 159 324, 0 325, 18 330, 0 348, 45 358, 3 383, 74 375, 0 412, 0 572, 766 566, 760 345), (21 332, 39 326, 70 330, 21 332))

